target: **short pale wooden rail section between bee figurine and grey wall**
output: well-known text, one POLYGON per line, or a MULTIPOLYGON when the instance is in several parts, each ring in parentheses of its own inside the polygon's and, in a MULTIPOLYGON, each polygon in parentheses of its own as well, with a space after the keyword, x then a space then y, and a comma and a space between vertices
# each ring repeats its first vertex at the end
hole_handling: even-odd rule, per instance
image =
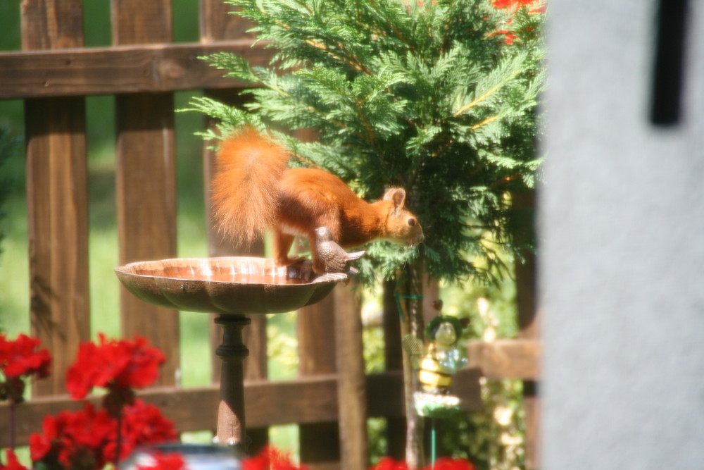
POLYGON ((540 378, 541 343, 537 340, 473 340, 467 344, 469 366, 477 367, 486 378, 540 378))

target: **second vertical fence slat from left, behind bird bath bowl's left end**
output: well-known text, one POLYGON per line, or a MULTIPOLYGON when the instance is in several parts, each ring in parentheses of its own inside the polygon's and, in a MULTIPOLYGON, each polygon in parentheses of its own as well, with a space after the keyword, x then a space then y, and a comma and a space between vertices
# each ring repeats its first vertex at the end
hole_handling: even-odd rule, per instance
MULTIPOLYGON (((112 0, 113 43, 171 41, 171 2, 112 0)), ((176 255, 176 171, 173 96, 125 94, 115 98, 120 263, 176 255)), ((149 338, 166 356, 157 385, 173 385, 179 366, 175 311, 120 292, 122 334, 149 338)))

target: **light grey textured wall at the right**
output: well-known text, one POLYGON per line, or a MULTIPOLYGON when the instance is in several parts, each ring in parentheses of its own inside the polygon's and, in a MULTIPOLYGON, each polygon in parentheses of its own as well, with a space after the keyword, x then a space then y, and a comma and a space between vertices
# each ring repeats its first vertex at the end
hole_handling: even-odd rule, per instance
POLYGON ((704 2, 670 125, 650 118, 660 2, 548 4, 542 467, 703 469, 704 2))

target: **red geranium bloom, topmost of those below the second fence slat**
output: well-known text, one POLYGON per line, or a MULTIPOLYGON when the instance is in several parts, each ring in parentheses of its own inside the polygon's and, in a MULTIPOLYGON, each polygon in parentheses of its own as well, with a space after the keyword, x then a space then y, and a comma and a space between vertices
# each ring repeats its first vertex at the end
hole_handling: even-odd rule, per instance
MULTIPOLYGON (((85 397, 93 387, 113 390, 143 388, 158 377, 158 366, 164 355, 149 347, 146 339, 134 335, 134 340, 106 340, 99 335, 100 345, 84 342, 75 363, 66 374, 66 388, 73 398, 85 397)), ((129 402, 129 401, 128 401, 129 402)))

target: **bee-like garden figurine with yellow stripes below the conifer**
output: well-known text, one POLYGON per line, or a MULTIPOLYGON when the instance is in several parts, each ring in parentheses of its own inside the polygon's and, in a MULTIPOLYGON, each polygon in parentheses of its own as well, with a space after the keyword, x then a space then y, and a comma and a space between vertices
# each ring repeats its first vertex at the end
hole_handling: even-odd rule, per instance
POLYGON ((438 315, 425 328, 427 347, 415 336, 403 340, 403 347, 415 357, 420 390, 413 397, 421 416, 437 418, 459 410, 460 399, 451 394, 450 388, 453 375, 467 363, 456 347, 462 328, 456 317, 438 315))

